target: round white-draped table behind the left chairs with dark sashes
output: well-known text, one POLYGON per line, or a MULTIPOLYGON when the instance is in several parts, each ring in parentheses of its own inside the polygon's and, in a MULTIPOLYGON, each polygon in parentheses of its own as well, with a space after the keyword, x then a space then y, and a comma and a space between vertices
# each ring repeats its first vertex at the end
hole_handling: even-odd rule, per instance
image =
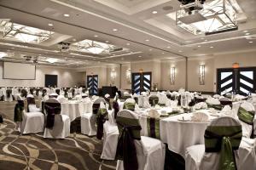
POLYGON ((69 101, 67 103, 61 103, 61 115, 67 115, 70 121, 73 122, 77 117, 83 113, 92 112, 92 103, 80 102, 80 101, 69 101))

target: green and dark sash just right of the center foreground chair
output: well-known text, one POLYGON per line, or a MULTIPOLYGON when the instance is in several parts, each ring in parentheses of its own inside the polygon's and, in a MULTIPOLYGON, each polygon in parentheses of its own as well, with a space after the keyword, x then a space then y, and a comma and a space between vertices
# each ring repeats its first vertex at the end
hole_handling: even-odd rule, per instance
POLYGON ((160 139, 160 119, 147 117, 148 136, 160 139))

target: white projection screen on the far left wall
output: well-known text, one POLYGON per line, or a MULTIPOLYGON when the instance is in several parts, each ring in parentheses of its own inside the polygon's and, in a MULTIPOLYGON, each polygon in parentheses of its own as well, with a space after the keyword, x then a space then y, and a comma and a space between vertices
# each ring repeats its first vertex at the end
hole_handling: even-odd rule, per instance
POLYGON ((36 65, 3 62, 3 79, 35 80, 36 65))

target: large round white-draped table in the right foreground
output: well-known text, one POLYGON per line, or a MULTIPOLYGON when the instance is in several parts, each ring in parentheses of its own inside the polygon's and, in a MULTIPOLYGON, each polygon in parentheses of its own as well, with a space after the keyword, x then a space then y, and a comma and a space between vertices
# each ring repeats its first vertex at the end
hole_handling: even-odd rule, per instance
MULTIPOLYGON (((166 111, 166 107, 161 108, 160 111, 166 111)), ((142 127, 141 135, 148 136, 147 128, 147 116, 146 111, 138 112, 139 122, 142 127), (142 113, 144 112, 144 113, 142 113)), ((204 134, 207 126, 210 124, 211 120, 215 119, 216 116, 210 116, 207 110, 209 120, 207 122, 192 122, 180 121, 190 118, 193 113, 183 113, 176 116, 168 116, 166 118, 160 119, 160 140, 163 143, 168 144, 168 149, 176 152, 181 156, 185 156, 186 148, 195 144, 204 144, 204 134)))

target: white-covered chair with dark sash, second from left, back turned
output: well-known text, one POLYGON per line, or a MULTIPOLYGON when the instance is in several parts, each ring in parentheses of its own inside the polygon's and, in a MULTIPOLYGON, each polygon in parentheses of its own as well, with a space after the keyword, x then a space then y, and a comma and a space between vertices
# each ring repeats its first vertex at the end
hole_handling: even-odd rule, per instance
POLYGON ((44 129, 44 138, 64 139, 70 134, 70 118, 67 115, 61 115, 61 103, 50 98, 44 103, 46 112, 46 126, 44 129))

